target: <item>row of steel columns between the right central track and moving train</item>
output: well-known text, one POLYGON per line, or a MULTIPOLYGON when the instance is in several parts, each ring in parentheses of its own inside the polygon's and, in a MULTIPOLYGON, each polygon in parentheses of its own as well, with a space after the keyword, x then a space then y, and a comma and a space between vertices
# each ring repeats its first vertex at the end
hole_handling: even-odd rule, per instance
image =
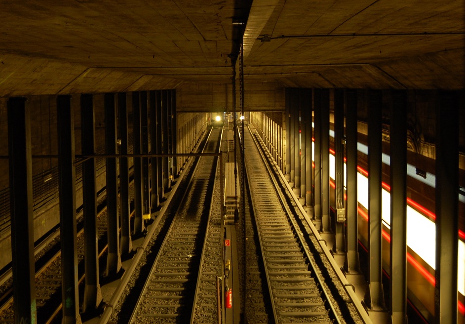
MULTIPOLYGON (((458 253, 458 120, 459 95, 440 91, 436 108, 436 286, 435 323, 457 321, 458 253), (452 154, 455 152, 456 154, 452 154), (449 158, 447 158, 449 157, 449 158)), ((333 235, 333 253, 344 254, 347 274, 361 273, 358 258, 357 111, 368 110, 368 273, 364 302, 369 310, 388 309, 392 323, 407 323, 407 110, 402 90, 286 89, 280 143, 266 113, 253 113, 252 123, 294 192, 313 217, 320 233, 333 235), (358 99, 363 100, 358 100, 358 99), (382 126, 383 107, 390 128, 390 301, 386 305, 382 268, 382 126), (330 203, 330 111, 334 112, 335 179, 330 203), (312 166, 312 115, 314 169, 312 166), (309 127, 310 125, 310 127, 309 127), (273 138, 274 137, 274 138, 273 138), (344 157, 347 157, 344 173, 344 157), (344 188, 344 182, 347 188, 344 188), (346 193, 347 198, 344 197, 346 193), (330 206, 334 206, 331 212, 330 206)))

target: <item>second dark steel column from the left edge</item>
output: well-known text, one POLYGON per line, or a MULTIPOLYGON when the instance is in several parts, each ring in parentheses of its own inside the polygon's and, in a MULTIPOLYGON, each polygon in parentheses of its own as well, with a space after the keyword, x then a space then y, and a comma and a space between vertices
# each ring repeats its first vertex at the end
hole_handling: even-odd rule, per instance
MULTIPOLYGON (((63 324, 81 323, 77 290, 76 175, 71 96, 57 97, 63 324)), ((34 260, 34 259, 33 259, 34 260)))

